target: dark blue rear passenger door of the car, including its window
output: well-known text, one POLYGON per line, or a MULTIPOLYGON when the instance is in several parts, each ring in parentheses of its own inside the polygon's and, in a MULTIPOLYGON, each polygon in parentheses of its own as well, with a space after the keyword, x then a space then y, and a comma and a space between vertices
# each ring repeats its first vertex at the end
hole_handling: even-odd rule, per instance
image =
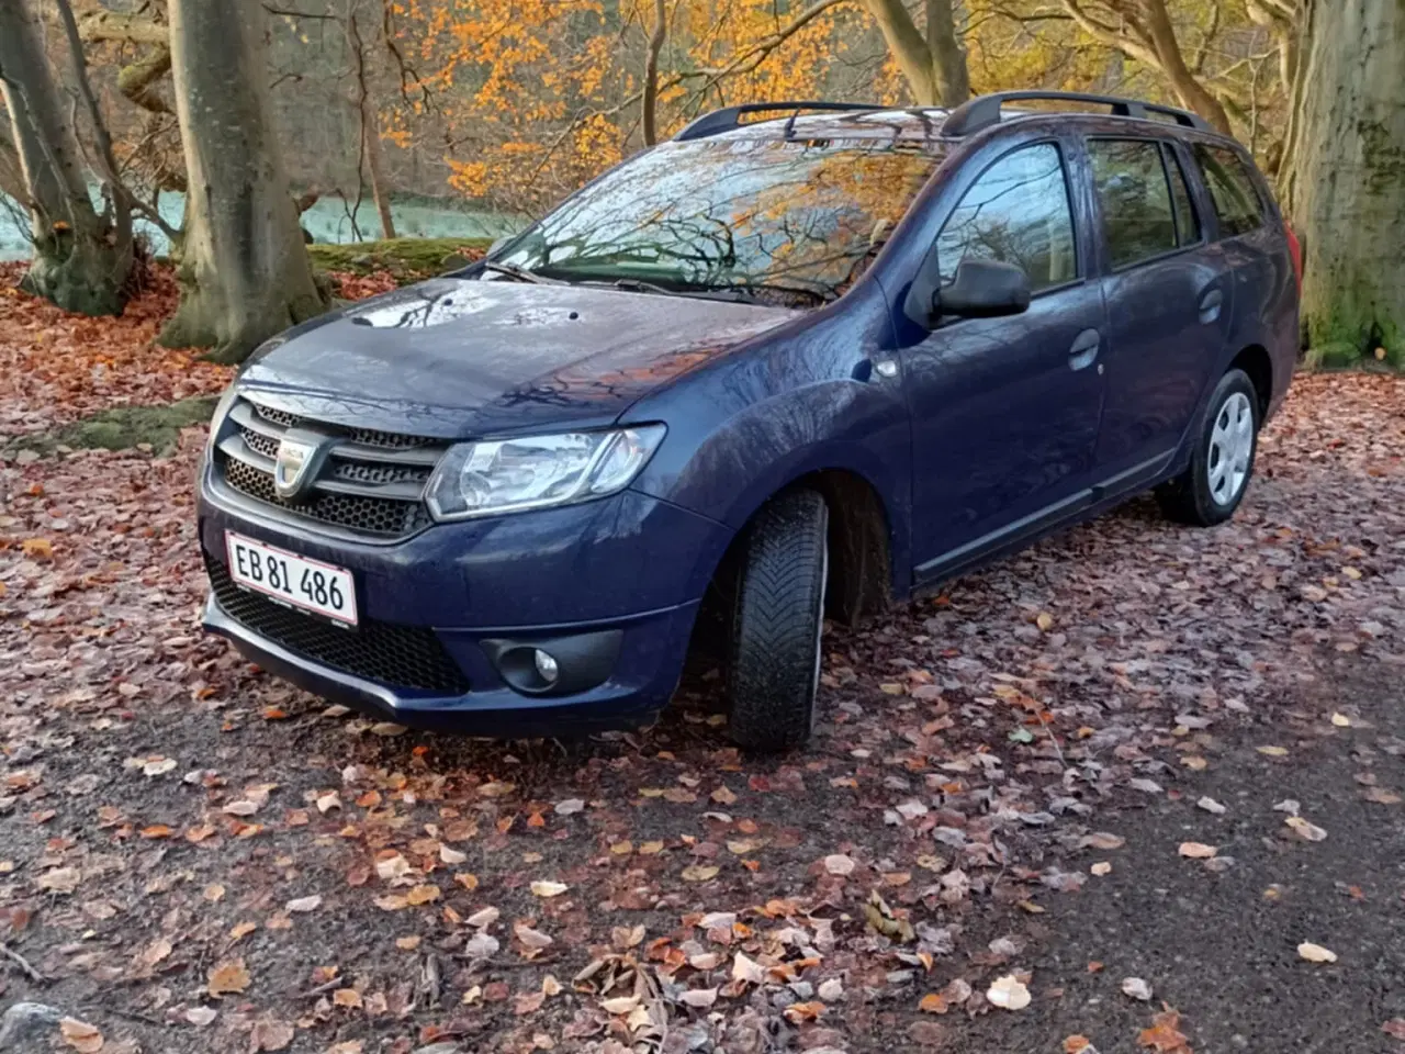
POLYGON ((1228 339, 1234 284, 1208 240, 1182 152, 1156 138, 1090 138, 1107 304, 1104 482, 1159 472, 1180 444, 1228 339))

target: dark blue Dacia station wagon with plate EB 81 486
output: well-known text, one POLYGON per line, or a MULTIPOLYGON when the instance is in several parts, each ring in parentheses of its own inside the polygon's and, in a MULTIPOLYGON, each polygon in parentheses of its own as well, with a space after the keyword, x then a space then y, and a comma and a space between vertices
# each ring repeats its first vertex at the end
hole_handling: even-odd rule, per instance
POLYGON ((708 114, 488 260, 270 341, 201 471, 205 625, 488 735, 648 722, 718 632, 732 738, 781 749, 826 617, 1151 488, 1228 519, 1297 245, 1198 118, 1002 111, 1041 94, 708 114))

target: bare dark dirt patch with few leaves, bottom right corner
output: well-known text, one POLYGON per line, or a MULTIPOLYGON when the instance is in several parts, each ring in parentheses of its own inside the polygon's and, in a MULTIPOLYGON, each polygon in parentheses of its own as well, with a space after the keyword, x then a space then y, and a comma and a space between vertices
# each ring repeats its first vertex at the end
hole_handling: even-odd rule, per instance
POLYGON ((984 1019, 954 1048, 1055 1051, 1080 1034, 1104 1054, 1139 1050, 1165 1002, 1194 1051, 1405 1050, 1385 1032, 1405 1033, 1405 665, 1339 661, 1287 701, 1207 749, 1177 800, 1104 816, 1127 845, 1047 916, 1031 1006, 984 1019), (1260 753, 1280 745, 1281 757, 1260 753), (1305 840, 1291 815, 1325 838, 1305 840), (1214 845, 1214 863, 1180 857, 1183 842, 1214 845), (1338 961, 1302 960, 1304 942, 1338 961), (1121 994, 1130 977, 1152 1002, 1121 994))

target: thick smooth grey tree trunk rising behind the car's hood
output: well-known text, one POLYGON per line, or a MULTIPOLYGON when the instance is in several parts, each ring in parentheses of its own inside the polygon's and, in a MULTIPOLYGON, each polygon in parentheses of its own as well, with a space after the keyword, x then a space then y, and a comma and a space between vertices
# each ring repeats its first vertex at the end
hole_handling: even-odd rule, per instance
MULTIPOLYGON (((3 0, 0 0, 3 1, 3 0)), ((242 361, 326 309, 268 117, 253 0, 173 0, 171 73, 190 191, 169 347, 242 361)))

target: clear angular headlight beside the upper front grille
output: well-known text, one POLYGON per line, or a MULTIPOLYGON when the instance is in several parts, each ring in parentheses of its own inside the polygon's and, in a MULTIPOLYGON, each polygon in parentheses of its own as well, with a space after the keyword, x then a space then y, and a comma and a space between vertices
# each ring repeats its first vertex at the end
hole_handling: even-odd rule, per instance
POLYGON ((436 520, 544 509, 622 490, 663 441, 662 424, 485 440, 451 447, 434 471, 436 520))

